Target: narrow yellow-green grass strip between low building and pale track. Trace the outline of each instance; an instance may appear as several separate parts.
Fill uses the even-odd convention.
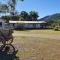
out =
[[[34,33],[34,34],[53,34],[53,35],[60,35],[60,31],[54,31],[54,30],[24,30],[24,31],[18,31],[20,33]]]

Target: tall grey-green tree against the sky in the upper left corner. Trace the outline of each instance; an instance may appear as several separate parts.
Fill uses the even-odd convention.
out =
[[[4,0],[5,1],[5,0]],[[11,13],[11,15],[15,14],[15,8],[16,8],[16,3],[18,0],[7,0],[6,4],[1,4],[0,3],[0,13]],[[24,0],[20,0],[24,1]]]

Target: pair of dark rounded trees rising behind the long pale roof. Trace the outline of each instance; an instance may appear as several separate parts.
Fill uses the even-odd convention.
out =
[[[20,14],[20,20],[22,21],[36,21],[38,18],[38,13],[35,11],[31,11],[27,13],[26,11],[22,11]]]

